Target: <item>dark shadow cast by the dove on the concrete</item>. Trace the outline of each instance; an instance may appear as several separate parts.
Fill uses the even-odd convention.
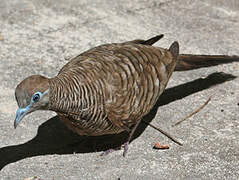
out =
[[[151,122],[160,106],[235,78],[236,77],[231,74],[213,73],[207,78],[200,78],[169,88],[160,96],[157,104],[150,113],[144,117],[144,121]],[[140,136],[146,127],[147,125],[141,123],[133,139]],[[0,148],[0,170],[10,163],[28,157],[48,154],[104,151],[109,148],[120,146],[127,137],[128,134],[124,132],[118,135],[105,135],[99,137],[79,136],[68,130],[59,118],[55,116],[39,126],[37,135],[32,140],[24,144]]]

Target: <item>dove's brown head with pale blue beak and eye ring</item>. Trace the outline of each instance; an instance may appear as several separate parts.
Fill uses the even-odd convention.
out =
[[[46,110],[49,104],[49,79],[33,75],[24,79],[15,90],[19,109],[17,110],[14,128],[27,114],[36,110]]]

